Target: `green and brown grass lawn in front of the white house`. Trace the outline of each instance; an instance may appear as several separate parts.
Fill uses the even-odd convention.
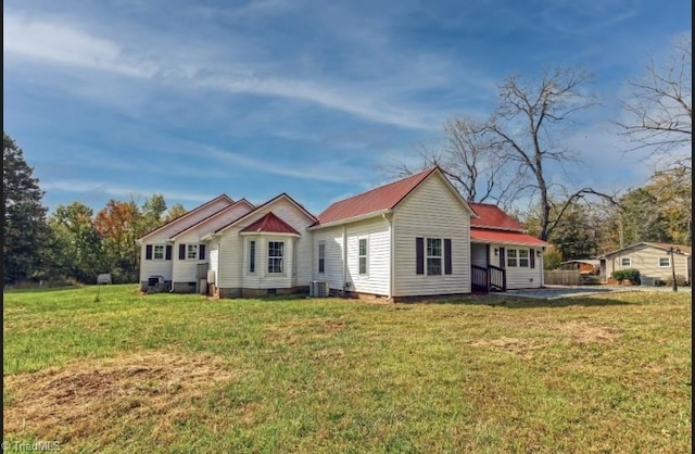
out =
[[[691,452],[691,293],[397,305],[96,294],[4,293],[10,445]]]

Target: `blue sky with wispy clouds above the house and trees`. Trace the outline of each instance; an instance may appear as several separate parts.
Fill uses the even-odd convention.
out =
[[[692,34],[690,1],[5,0],[3,129],[45,203],[288,192],[309,211],[417,161],[505,77],[582,65],[601,105],[553,178],[618,191],[646,163],[611,119],[626,81]]]

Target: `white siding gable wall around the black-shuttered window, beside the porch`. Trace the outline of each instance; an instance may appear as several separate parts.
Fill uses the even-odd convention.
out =
[[[470,214],[438,174],[395,209],[395,297],[470,293]],[[451,275],[416,274],[416,238],[452,240]]]

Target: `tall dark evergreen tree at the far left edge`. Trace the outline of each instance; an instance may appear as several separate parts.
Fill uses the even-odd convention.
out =
[[[41,250],[47,241],[43,191],[24,161],[23,150],[2,133],[2,201],[4,206],[4,283],[33,277],[41,267]]]

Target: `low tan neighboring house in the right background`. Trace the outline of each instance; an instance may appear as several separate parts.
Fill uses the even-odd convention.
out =
[[[671,248],[679,250],[680,253],[671,255],[669,252]],[[631,244],[599,257],[601,276],[608,279],[614,272],[634,268],[640,270],[642,277],[668,280],[672,278],[674,268],[677,276],[683,276],[692,282],[692,247],[684,244],[657,242]],[[673,264],[671,264],[671,256]]]

